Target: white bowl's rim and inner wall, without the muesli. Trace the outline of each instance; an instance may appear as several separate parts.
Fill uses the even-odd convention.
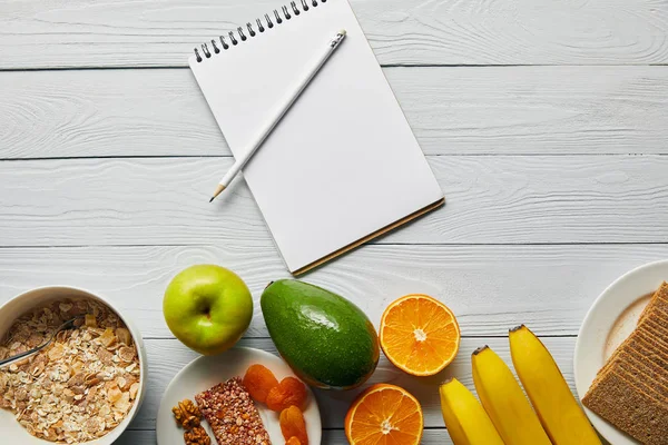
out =
[[[132,340],[137,347],[137,354],[139,357],[139,368],[141,374],[139,376],[139,390],[137,392],[137,398],[130,408],[128,415],[122,419],[120,424],[111,429],[107,435],[97,438],[95,441],[86,442],[87,445],[110,445],[112,444],[128,427],[132,418],[137,415],[141,402],[144,400],[144,394],[146,389],[146,376],[147,376],[147,360],[146,350],[144,348],[144,342],[141,334],[132,325],[132,323],[125,317],[108,299],[100,297],[99,295],[91,294],[84,289],[66,286],[49,286],[40,287],[33,290],[23,293],[0,307],[0,338],[2,338],[6,332],[11,327],[13,322],[21,315],[30,312],[31,309],[56,299],[60,298],[90,298],[100,301],[105,306],[114,310],[120,319],[126,324],[128,330],[132,336]],[[0,409],[0,442],[7,444],[21,444],[21,445],[45,445],[53,444],[53,442],[37,438],[30,435],[26,428],[23,428],[16,421],[14,415],[8,411]]]

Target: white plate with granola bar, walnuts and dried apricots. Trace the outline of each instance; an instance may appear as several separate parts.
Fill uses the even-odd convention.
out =
[[[320,445],[313,393],[264,350],[234,347],[190,362],[158,411],[158,445]]]

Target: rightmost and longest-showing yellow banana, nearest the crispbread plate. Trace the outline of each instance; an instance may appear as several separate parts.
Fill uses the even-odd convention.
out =
[[[554,445],[601,445],[563,375],[540,339],[524,325],[510,330],[518,377]]]

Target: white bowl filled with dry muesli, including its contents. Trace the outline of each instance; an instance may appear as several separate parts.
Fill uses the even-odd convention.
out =
[[[82,289],[43,287],[4,304],[0,360],[2,443],[109,445],[144,397],[141,335]]]

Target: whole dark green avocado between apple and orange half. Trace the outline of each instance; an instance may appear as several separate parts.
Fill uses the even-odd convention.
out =
[[[271,283],[262,313],[281,356],[307,384],[325,389],[362,385],[379,363],[379,336],[347,299],[296,279]]]

